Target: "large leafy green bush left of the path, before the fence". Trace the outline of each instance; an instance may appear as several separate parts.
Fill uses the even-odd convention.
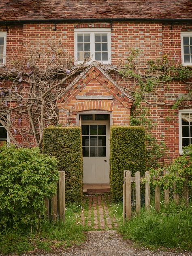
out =
[[[0,226],[21,228],[41,221],[45,197],[58,181],[57,161],[39,148],[0,147]]]

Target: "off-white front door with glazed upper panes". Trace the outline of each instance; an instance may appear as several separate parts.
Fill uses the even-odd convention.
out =
[[[109,122],[82,121],[83,183],[109,183]]]

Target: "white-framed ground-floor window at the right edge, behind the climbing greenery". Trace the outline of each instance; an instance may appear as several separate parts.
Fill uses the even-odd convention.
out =
[[[179,154],[192,144],[192,109],[179,110]]]

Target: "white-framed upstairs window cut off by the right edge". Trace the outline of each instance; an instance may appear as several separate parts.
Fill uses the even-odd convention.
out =
[[[192,66],[192,32],[181,32],[181,60],[184,66]]]

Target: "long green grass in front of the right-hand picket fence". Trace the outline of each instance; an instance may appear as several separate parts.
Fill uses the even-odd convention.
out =
[[[153,250],[192,250],[192,207],[176,206],[172,202],[168,207],[161,205],[158,213],[153,206],[150,211],[142,208],[139,215],[134,215],[125,223],[120,211],[122,213],[122,203],[119,210],[113,206],[113,212],[119,219],[119,233],[124,239],[131,239]]]

